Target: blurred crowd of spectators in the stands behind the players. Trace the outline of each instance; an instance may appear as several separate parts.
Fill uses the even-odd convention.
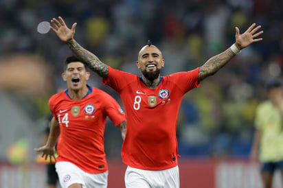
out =
[[[0,93],[8,93],[12,101],[19,102],[18,107],[25,109],[35,126],[27,126],[30,130],[26,130],[19,128],[21,124],[1,125],[1,132],[4,127],[15,126],[14,131],[33,132],[37,138],[35,135],[44,128],[36,120],[48,115],[48,98],[65,87],[60,74],[62,62],[71,51],[52,31],[39,34],[36,28],[41,21],[62,16],[69,27],[78,23],[75,38],[80,45],[111,67],[137,75],[140,75],[135,65],[137,53],[148,40],[161,49],[165,59],[161,74],[168,75],[201,66],[234,43],[235,27],[242,33],[256,23],[262,25],[263,40],[243,49],[216,75],[201,82],[199,89],[187,93],[177,125],[179,154],[183,157],[247,157],[255,108],[265,95],[264,82],[267,78],[282,77],[282,9],[282,0],[2,0]],[[30,60],[21,58],[21,66],[11,68],[15,71],[23,67],[16,72],[16,80],[23,88],[34,88],[36,84],[23,82],[19,75],[38,80],[39,71],[39,75],[45,76],[37,87],[41,92],[36,95],[31,94],[31,89],[20,94],[19,86],[7,86],[17,81],[9,82],[7,78],[12,74],[4,77],[1,73],[8,72],[7,59],[20,54],[45,62],[44,68],[28,72],[35,65],[23,66]],[[107,91],[120,102],[117,93],[103,86],[94,73],[89,84]],[[21,137],[20,133],[14,135],[14,140]],[[120,142],[117,139],[120,132],[108,126],[105,149],[109,157],[120,157],[122,139]]]

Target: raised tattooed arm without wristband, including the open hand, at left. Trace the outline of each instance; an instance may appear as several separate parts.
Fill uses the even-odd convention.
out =
[[[58,20],[52,19],[51,23],[53,25],[51,30],[56,33],[60,40],[68,45],[75,56],[86,64],[89,69],[98,73],[102,78],[108,78],[108,66],[101,62],[97,56],[80,46],[73,38],[76,32],[77,23],[73,23],[73,26],[69,29],[60,16],[58,17]]]

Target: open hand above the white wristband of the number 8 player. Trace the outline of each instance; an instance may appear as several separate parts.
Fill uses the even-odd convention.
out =
[[[238,49],[243,49],[251,43],[262,40],[262,38],[257,38],[258,36],[260,36],[260,34],[263,33],[263,31],[258,32],[260,27],[260,25],[256,27],[256,23],[253,23],[243,34],[240,34],[239,28],[236,27],[236,47],[238,47]]]

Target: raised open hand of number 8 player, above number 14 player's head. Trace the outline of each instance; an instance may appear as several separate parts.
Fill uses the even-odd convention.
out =
[[[52,19],[51,23],[53,25],[53,27],[50,27],[51,30],[54,33],[56,33],[56,35],[63,42],[67,42],[73,39],[73,35],[75,34],[77,23],[73,23],[73,26],[71,27],[71,29],[69,29],[69,27],[67,27],[65,21],[62,19],[61,16],[58,16],[58,20]]]

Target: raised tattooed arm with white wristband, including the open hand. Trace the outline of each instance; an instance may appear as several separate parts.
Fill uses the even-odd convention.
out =
[[[258,32],[260,29],[260,25],[256,27],[256,23],[253,23],[245,33],[240,34],[238,27],[236,27],[236,43],[231,45],[228,49],[223,51],[222,53],[213,56],[203,66],[199,69],[199,81],[204,80],[210,75],[214,75],[217,71],[219,71],[222,67],[227,64],[236,54],[240,52],[241,49],[244,49],[251,43],[258,42],[262,40],[262,38],[257,38],[263,31]]]

